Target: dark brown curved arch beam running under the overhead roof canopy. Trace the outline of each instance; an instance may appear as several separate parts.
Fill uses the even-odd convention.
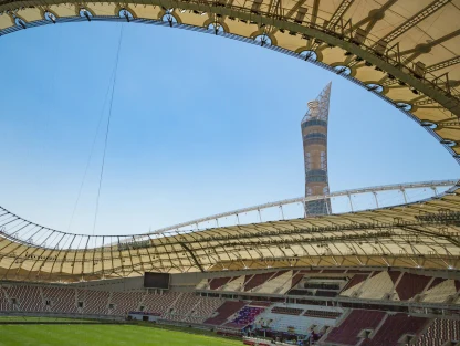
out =
[[[81,6],[81,2],[76,0],[69,0],[65,1],[66,3],[77,3]],[[97,1],[96,1],[97,2]],[[138,0],[138,2],[133,2],[134,4],[144,4],[143,1]],[[217,14],[221,17],[231,17],[238,18],[240,20],[249,21],[259,25],[260,28],[263,27],[272,27],[276,29],[288,30],[293,33],[303,34],[307,38],[314,38],[317,41],[324,42],[330,46],[338,46],[346,52],[349,52],[360,59],[365,60],[366,62],[377,66],[378,69],[386,71],[390,75],[395,76],[399,81],[410,85],[412,88],[419,91],[420,93],[429,96],[430,98],[435,99],[439,103],[442,107],[450,111],[452,114],[460,116],[460,101],[459,98],[450,95],[448,88],[440,87],[439,83],[435,83],[432,81],[426,80],[425,77],[415,76],[410,72],[410,62],[415,59],[408,59],[407,61],[400,61],[399,56],[390,57],[391,54],[387,54],[387,56],[380,56],[374,49],[372,48],[372,42],[368,43],[366,46],[364,43],[355,44],[353,43],[353,36],[351,34],[343,34],[338,31],[327,31],[324,28],[320,28],[317,25],[309,23],[299,24],[296,22],[291,21],[289,18],[284,18],[280,14],[273,14],[270,12],[258,12],[252,13],[250,9],[247,8],[239,8],[233,4],[226,4],[220,6],[218,2],[202,2],[198,0],[191,1],[176,1],[176,0],[153,0],[149,1],[150,4],[161,6],[164,8],[180,8],[185,10],[191,10],[197,12],[205,12],[211,15]],[[3,1],[0,2],[0,12],[2,11],[14,11],[19,8],[30,7],[30,6],[42,6],[46,7],[49,3],[43,2],[42,0],[25,0],[25,1]],[[384,6],[385,7],[385,6]],[[134,22],[134,21],[133,21]],[[445,38],[437,39],[431,43],[427,43],[427,49],[435,44],[442,43],[442,41],[448,40],[457,35],[456,32],[447,34]],[[369,40],[369,38],[367,38]],[[376,44],[374,42],[374,44]],[[405,52],[406,54],[410,53]],[[417,53],[418,54],[418,53]]]

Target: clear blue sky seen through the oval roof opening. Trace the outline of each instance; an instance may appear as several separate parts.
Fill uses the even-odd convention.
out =
[[[0,206],[93,232],[121,25],[56,24],[0,39]],[[321,67],[210,34],[133,23],[123,32],[97,234],[302,196],[300,123],[330,81],[332,191],[459,176],[420,126]]]

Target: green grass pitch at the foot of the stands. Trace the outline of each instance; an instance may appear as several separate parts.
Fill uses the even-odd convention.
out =
[[[242,342],[136,325],[0,325],[0,346],[236,346]]]

